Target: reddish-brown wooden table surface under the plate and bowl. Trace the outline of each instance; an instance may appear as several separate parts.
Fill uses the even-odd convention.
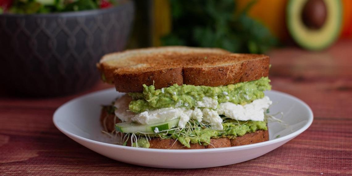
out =
[[[3,175],[352,175],[352,41],[323,52],[277,49],[272,87],[313,109],[312,126],[251,161],[207,169],[158,169],[114,161],[74,142],[52,123],[56,108],[77,96],[0,98],[0,176]],[[97,117],[98,118],[98,117]]]

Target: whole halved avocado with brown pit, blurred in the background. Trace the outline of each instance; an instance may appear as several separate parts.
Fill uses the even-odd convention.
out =
[[[295,42],[309,50],[322,50],[338,37],[342,26],[340,0],[289,0],[287,28]]]

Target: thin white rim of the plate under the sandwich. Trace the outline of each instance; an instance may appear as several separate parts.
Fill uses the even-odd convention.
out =
[[[192,150],[177,150],[177,149],[149,149],[149,148],[140,148],[140,147],[130,147],[130,146],[123,146],[123,145],[117,145],[117,144],[109,144],[109,143],[104,143],[104,142],[99,142],[96,140],[92,140],[92,139],[88,139],[88,138],[84,138],[81,136],[78,136],[77,134],[71,133],[63,128],[60,128],[59,125],[57,124],[56,120],[57,120],[57,113],[60,111],[60,109],[62,109],[64,106],[69,105],[70,103],[73,103],[75,101],[79,101],[80,99],[84,99],[88,96],[94,96],[94,94],[99,94],[99,93],[105,93],[105,92],[110,92],[112,90],[115,90],[115,88],[108,88],[108,89],[103,89],[103,90],[98,90],[95,92],[91,92],[85,95],[81,95],[78,96],[77,98],[71,99],[65,103],[63,103],[61,106],[59,106],[54,114],[53,114],[53,118],[52,121],[54,122],[55,127],[61,131],[62,133],[64,133],[66,136],[68,136],[69,138],[77,138],[81,141],[90,143],[90,144],[94,144],[94,145],[102,145],[105,147],[113,147],[113,148],[117,148],[117,149],[121,149],[121,150],[130,150],[130,151],[135,151],[135,152],[162,152],[162,153],[204,153],[204,152],[223,152],[223,151],[228,151],[228,150],[243,150],[243,149],[251,149],[251,148],[255,148],[255,147],[259,147],[259,146],[266,146],[266,145],[270,145],[270,144],[274,144],[274,143],[279,143],[291,138],[294,138],[296,136],[298,136],[299,134],[301,134],[302,132],[306,131],[309,126],[312,124],[313,119],[314,119],[314,115],[313,115],[313,111],[312,109],[307,105],[306,102],[302,101],[301,99],[290,95],[288,93],[284,93],[284,92],[280,92],[277,90],[269,90],[269,91],[265,91],[265,92],[273,92],[275,94],[279,94],[281,96],[286,96],[288,98],[294,99],[295,101],[302,103],[303,106],[308,110],[308,122],[307,124],[305,124],[302,128],[298,129],[297,131],[290,133],[286,136],[283,137],[278,137],[272,140],[268,140],[268,141],[264,141],[264,142],[260,142],[260,143],[255,143],[255,144],[247,144],[247,145],[241,145],[241,146],[231,146],[231,147],[222,147],[222,148],[215,148],[215,149],[192,149]],[[116,92],[116,93],[120,93],[120,92]],[[74,140],[74,139],[73,139]]]

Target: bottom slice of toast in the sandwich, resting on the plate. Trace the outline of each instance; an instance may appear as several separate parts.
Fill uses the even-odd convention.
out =
[[[114,122],[115,120],[115,122]],[[112,132],[115,130],[115,123],[121,122],[118,118],[115,118],[114,114],[108,114],[106,109],[102,108],[100,115],[100,123],[107,130]],[[210,139],[209,145],[190,144],[190,148],[185,147],[179,141],[175,139],[159,139],[152,138],[149,140],[151,149],[209,149],[209,148],[221,148],[231,147],[239,145],[254,144],[269,140],[268,130],[257,130],[253,133],[246,133],[244,136],[237,137],[236,139],[219,138]],[[131,142],[127,142],[128,146],[131,146]]]

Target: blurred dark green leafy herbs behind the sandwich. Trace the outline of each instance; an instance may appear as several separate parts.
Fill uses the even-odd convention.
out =
[[[161,38],[162,45],[223,48],[232,52],[263,53],[278,40],[247,12],[256,1],[242,9],[234,0],[170,0],[172,29]]]

